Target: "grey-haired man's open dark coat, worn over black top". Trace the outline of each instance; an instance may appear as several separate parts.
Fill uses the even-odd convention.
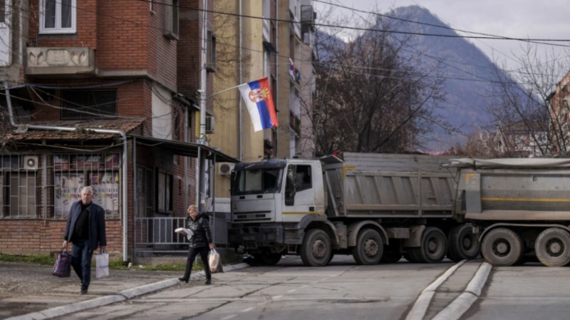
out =
[[[89,212],[89,247],[95,251],[98,246],[107,246],[107,235],[105,234],[105,210],[100,205],[91,202],[87,207]],[[77,218],[81,214],[81,200],[74,202],[69,210],[69,217],[66,225],[66,233],[63,239],[71,240],[73,229],[75,229]]]

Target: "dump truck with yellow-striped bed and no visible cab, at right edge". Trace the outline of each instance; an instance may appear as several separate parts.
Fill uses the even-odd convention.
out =
[[[457,215],[480,234],[494,266],[570,262],[570,159],[455,159]]]

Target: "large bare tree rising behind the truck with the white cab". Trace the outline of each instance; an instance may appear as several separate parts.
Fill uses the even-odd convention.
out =
[[[392,26],[381,19],[378,29]],[[439,66],[404,54],[408,39],[368,31],[344,42],[317,33],[314,128],[318,153],[334,150],[396,153],[421,147],[443,100]]]

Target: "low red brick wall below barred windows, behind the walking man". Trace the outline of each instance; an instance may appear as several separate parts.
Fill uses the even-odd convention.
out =
[[[105,221],[107,250],[123,252],[120,220]],[[0,220],[0,252],[3,254],[49,254],[61,250],[65,220]],[[69,247],[68,249],[71,249]]]

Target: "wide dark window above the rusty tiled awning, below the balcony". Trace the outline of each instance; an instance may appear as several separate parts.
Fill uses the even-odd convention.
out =
[[[117,115],[117,92],[62,91],[62,120],[108,119]]]

